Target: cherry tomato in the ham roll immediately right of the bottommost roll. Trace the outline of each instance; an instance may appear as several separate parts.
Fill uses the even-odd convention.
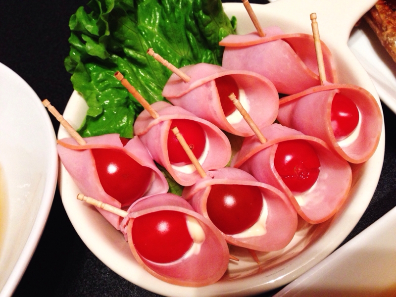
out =
[[[247,185],[213,185],[207,198],[207,214],[225,234],[241,233],[257,222],[263,208],[261,191]]]

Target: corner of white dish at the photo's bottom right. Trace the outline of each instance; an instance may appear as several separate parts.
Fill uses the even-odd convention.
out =
[[[396,208],[393,208],[274,297],[396,295]]]

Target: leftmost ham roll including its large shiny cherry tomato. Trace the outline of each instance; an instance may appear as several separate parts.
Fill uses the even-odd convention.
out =
[[[128,208],[137,199],[168,191],[168,183],[155,166],[139,137],[124,146],[118,134],[84,139],[79,145],[73,138],[58,140],[62,164],[79,190],[117,208]],[[99,212],[119,228],[120,217],[101,208]]]

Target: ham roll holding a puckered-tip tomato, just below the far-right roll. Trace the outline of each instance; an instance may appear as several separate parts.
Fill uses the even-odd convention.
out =
[[[333,216],[351,186],[349,163],[322,140],[280,124],[261,132],[267,142],[245,138],[231,165],[283,191],[307,222],[321,223]]]

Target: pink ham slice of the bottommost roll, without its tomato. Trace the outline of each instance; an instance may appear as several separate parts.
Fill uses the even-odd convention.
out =
[[[167,264],[157,264],[141,257],[133,244],[131,230],[134,219],[161,210],[179,211],[198,221],[205,234],[198,253],[184,255]],[[226,241],[212,222],[195,212],[183,198],[170,193],[145,197],[132,204],[128,212],[120,229],[127,236],[136,260],[153,276],[179,286],[201,287],[217,282],[226,272],[230,257]]]

